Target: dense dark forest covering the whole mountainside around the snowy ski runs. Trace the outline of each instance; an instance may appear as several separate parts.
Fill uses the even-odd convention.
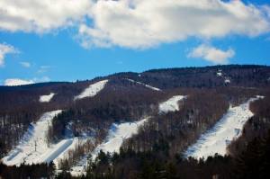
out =
[[[67,137],[67,129],[75,137],[86,134],[94,138],[70,152],[68,159],[60,163],[62,173],[58,174],[53,164],[1,164],[0,175],[4,178],[71,177],[70,166],[105,139],[112,123],[149,117],[138,134],[124,140],[119,154],[100,152],[94,161],[89,160],[91,165],[82,177],[217,179],[254,178],[260,173],[257,177],[264,178],[270,161],[267,152],[269,77],[270,67],[265,66],[186,67],[155,69],[140,74],[120,73],[76,83],[0,86],[1,158],[18,144],[31,123],[44,112],[63,110],[49,126],[48,144]],[[88,85],[103,79],[109,79],[109,82],[99,94],[74,99]],[[49,103],[40,103],[40,95],[50,93],[56,94],[55,97]],[[180,110],[159,113],[158,103],[177,94],[188,96],[178,103]],[[241,137],[229,145],[229,156],[206,160],[184,158],[184,150],[219,121],[229,105],[244,103],[256,95],[265,98],[251,103],[250,109],[255,115],[247,121]],[[254,164],[251,164],[252,160]]]

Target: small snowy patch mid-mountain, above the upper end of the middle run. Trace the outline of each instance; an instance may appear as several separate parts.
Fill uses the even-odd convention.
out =
[[[166,113],[166,112],[175,112],[179,110],[178,102],[183,100],[186,96],[184,95],[175,95],[169,98],[166,102],[159,103],[159,112]]]

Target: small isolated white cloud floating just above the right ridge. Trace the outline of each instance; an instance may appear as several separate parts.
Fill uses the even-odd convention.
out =
[[[202,44],[190,51],[187,57],[202,58],[213,64],[228,64],[229,58],[233,58],[234,55],[235,51],[233,49],[222,50]]]

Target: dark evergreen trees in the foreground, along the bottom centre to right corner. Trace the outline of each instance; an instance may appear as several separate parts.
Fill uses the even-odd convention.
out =
[[[91,179],[266,179],[270,177],[270,130],[264,138],[247,143],[247,148],[235,157],[215,155],[206,160],[183,158],[154,151],[122,150],[120,154],[103,151],[89,161],[86,176]]]

